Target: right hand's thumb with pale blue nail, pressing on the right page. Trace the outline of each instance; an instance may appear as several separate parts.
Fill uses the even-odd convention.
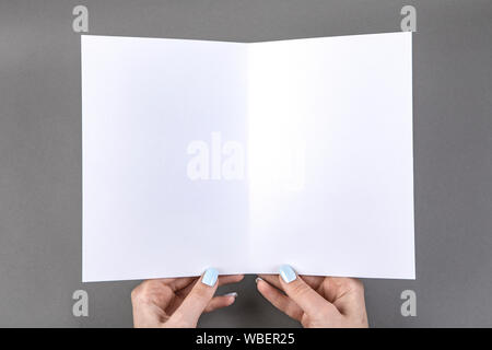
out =
[[[325,314],[329,312],[329,308],[335,308],[330,302],[304,282],[289,265],[282,265],[279,272],[280,284],[284,292],[308,316],[315,317],[321,313]]]

